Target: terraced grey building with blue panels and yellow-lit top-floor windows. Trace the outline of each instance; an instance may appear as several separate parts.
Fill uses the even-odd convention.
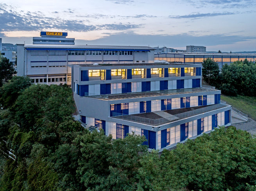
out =
[[[106,135],[145,135],[150,149],[172,147],[231,124],[220,91],[201,87],[201,65],[70,65],[81,121]]]

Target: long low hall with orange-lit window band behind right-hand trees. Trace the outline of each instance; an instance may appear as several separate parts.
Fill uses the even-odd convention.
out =
[[[186,64],[201,64],[204,59],[211,58],[222,68],[224,64],[230,64],[238,60],[256,61],[256,54],[233,54],[233,53],[168,53],[155,54],[155,60],[179,62]]]

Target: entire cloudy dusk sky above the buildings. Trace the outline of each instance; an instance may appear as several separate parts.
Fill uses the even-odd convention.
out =
[[[40,31],[75,44],[256,51],[256,0],[0,0],[3,43]]]

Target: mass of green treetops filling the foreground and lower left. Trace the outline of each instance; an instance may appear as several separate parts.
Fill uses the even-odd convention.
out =
[[[145,137],[112,140],[73,121],[70,88],[23,80],[8,82],[0,94],[0,146],[16,155],[0,156],[1,191],[255,190],[256,139],[246,131],[221,127],[149,153]],[[20,87],[17,96],[11,87]]]

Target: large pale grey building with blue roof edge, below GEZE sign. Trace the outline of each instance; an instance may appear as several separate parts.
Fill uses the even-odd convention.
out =
[[[72,64],[154,63],[154,49],[144,46],[17,44],[17,75],[34,83],[71,85]]]

